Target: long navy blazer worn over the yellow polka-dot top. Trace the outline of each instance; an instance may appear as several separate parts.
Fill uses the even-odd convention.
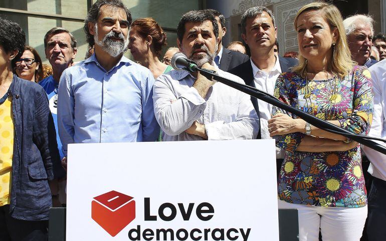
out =
[[[47,220],[52,197],[48,180],[64,175],[54,120],[44,89],[16,75],[11,84],[14,155],[10,214],[22,220]]]

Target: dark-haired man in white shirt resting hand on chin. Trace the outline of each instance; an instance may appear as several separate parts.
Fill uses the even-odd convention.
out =
[[[216,19],[206,11],[184,14],[177,27],[180,52],[199,67],[244,83],[213,66],[218,44]],[[199,72],[170,71],[154,83],[155,117],[163,140],[253,139],[259,119],[247,94],[208,80]]]

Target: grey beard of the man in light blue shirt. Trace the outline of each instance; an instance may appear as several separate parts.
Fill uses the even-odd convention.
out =
[[[121,41],[112,40],[112,38],[120,39]],[[123,54],[127,50],[127,45],[129,44],[128,36],[123,36],[122,33],[115,33],[112,30],[105,35],[105,37],[99,41],[98,40],[98,27],[95,24],[95,35],[94,42],[96,45],[102,48],[106,53],[108,53],[112,57],[118,57]]]

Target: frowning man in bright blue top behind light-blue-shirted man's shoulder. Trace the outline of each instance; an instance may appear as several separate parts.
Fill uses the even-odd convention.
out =
[[[44,49],[46,52],[46,58],[50,62],[53,70],[53,75],[43,79],[39,84],[47,92],[49,99],[49,106],[54,118],[55,129],[56,129],[56,141],[58,142],[58,149],[60,158],[64,159],[64,154],[62,151],[62,142],[59,138],[58,133],[58,86],[60,76],[63,71],[71,67],[73,60],[76,57],[76,39],[74,36],[64,28],[53,28],[49,30],[44,36]],[[55,182],[51,183],[51,186]],[[58,197],[62,205],[66,203],[66,194],[65,194],[65,181],[60,181],[59,186],[52,188],[52,192],[55,195],[55,190],[59,189]],[[54,196],[53,196],[54,197]],[[55,200],[55,199],[54,199]]]

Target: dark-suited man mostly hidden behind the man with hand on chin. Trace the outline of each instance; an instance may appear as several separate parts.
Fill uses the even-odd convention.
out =
[[[217,24],[219,25],[219,45],[217,50],[217,56],[214,60],[219,69],[228,71],[244,62],[247,62],[249,60],[248,55],[226,49],[222,44],[223,37],[227,33],[224,15],[222,15],[219,11],[213,9],[208,9],[206,11],[211,13],[216,18]]]

